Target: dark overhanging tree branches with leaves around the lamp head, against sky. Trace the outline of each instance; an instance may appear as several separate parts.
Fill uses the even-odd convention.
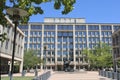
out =
[[[8,1],[8,2],[7,2]],[[21,18],[21,23],[27,23],[31,15],[43,14],[40,4],[46,2],[54,2],[54,9],[59,10],[64,7],[62,14],[68,14],[73,10],[73,4],[76,0],[1,0],[0,1],[0,24],[4,25],[7,21],[4,18],[6,15],[5,10],[10,8],[11,5],[7,3],[13,3],[12,7],[24,9],[28,12],[28,16]],[[10,16],[12,19],[12,16]]]

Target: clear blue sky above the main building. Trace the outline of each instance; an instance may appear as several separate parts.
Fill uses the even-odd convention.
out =
[[[85,18],[87,23],[120,23],[120,0],[76,0],[74,10],[62,15],[53,3],[40,5],[44,14],[32,15],[29,22],[43,22],[45,17]]]

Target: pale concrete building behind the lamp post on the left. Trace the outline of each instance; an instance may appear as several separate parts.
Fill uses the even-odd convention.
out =
[[[7,39],[4,42],[0,41],[0,73],[10,71],[13,52],[14,25],[7,17],[6,19],[8,20],[7,26],[0,25],[1,33],[7,33]],[[19,72],[23,69],[24,36],[24,33],[17,28],[14,66],[17,65],[19,68],[14,68],[19,69]]]

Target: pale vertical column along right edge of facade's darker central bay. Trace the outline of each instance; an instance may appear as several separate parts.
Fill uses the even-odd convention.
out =
[[[75,50],[75,24],[73,24],[73,63],[74,70],[76,70],[76,50]]]

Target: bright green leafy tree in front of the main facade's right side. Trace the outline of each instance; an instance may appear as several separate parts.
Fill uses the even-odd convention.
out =
[[[100,43],[94,50],[84,49],[83,54],[87,56],[92,67],[111,67],[113,65],[111,47],[105,43]]]

